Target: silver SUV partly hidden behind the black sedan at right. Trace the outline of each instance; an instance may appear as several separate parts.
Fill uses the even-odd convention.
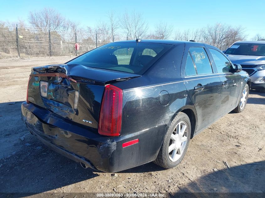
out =
[[[237,41],[224,51],[251,79],[251,88],[265,93],[265,41]]]

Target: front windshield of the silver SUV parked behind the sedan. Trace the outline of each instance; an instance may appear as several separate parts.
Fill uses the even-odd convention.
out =
[[[265,44],[235,43],[225,53],[232,55],[265,56]]]

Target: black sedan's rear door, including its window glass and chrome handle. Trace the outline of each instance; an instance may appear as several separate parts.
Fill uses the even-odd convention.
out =
[[[221,81],[204,44],[186,43],[181,75],[197,112],[197,131],[213,123],[221,98]]]

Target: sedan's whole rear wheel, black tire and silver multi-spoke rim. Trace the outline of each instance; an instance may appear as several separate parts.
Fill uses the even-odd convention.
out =
[[[191,125],[187,114],[179,112],[167,129],[155,164],[170,169],[178,165],[187,152]]]

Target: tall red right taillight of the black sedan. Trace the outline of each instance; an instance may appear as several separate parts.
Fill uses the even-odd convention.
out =
[[[118,136],[121,130],[123,91],[111,84],[105,86],[101,104],[98,133]]]

